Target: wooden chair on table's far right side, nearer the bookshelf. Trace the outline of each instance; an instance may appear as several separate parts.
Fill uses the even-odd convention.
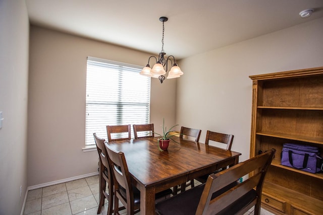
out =
[[[225,133],[218,133],[214,131],[206,131],[206,137],[205,137],[205,145],[209,145],[209,140],[215,141],[217,143],[220,143],[222,145],[226,146],[226,150],[231,150],[232,142],[233,142],[233,134],[225,134]],[[221,167],[219,170],[213,172],[217,173],[219,171],[225,170],[227,167]],[[198,178],[195,178],[197,181],[201,183],[205,183],[207,180],[209,174],[200,176]]]

